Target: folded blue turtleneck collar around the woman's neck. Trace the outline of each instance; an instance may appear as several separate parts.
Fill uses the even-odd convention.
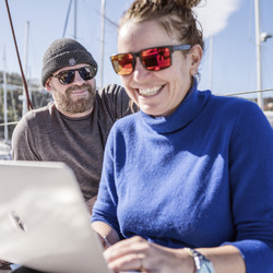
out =
[[[189,124],[207,103],[211,92],[197,90],[197,81],[178,108],[167,117],[151,117],[140,110],[141,118],[158,133],[171,133]]]

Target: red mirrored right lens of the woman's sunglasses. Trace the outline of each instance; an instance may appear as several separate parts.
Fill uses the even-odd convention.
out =
[[[171,66],[170,51],[167,47],[158,47],[143,50],[141,60],[147,70],[158,71]]]

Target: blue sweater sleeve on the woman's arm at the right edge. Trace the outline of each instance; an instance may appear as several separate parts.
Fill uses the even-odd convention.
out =
[[[248,273],[272,272],[273,130],[260,108],[246,103],[235,121],[229,146],[234,245]]]

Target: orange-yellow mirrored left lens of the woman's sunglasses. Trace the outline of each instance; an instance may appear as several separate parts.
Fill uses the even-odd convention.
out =
[[[111,56],[114,70],[119,75],[129,75],[133,71],[134,58],[131,54]]]

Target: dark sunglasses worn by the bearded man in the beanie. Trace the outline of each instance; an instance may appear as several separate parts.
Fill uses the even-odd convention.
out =
[[[61,71],[57,75],[51,74],[51,76],[57,78],[61,84],[70,84],[75,80],[75,71],[79,72],[80,76],[84,81],[92,80],[96,73],[97,73],[97,68],[95,67],[84,67],[80,69],[71,69],[71,70],[66,70]]]

